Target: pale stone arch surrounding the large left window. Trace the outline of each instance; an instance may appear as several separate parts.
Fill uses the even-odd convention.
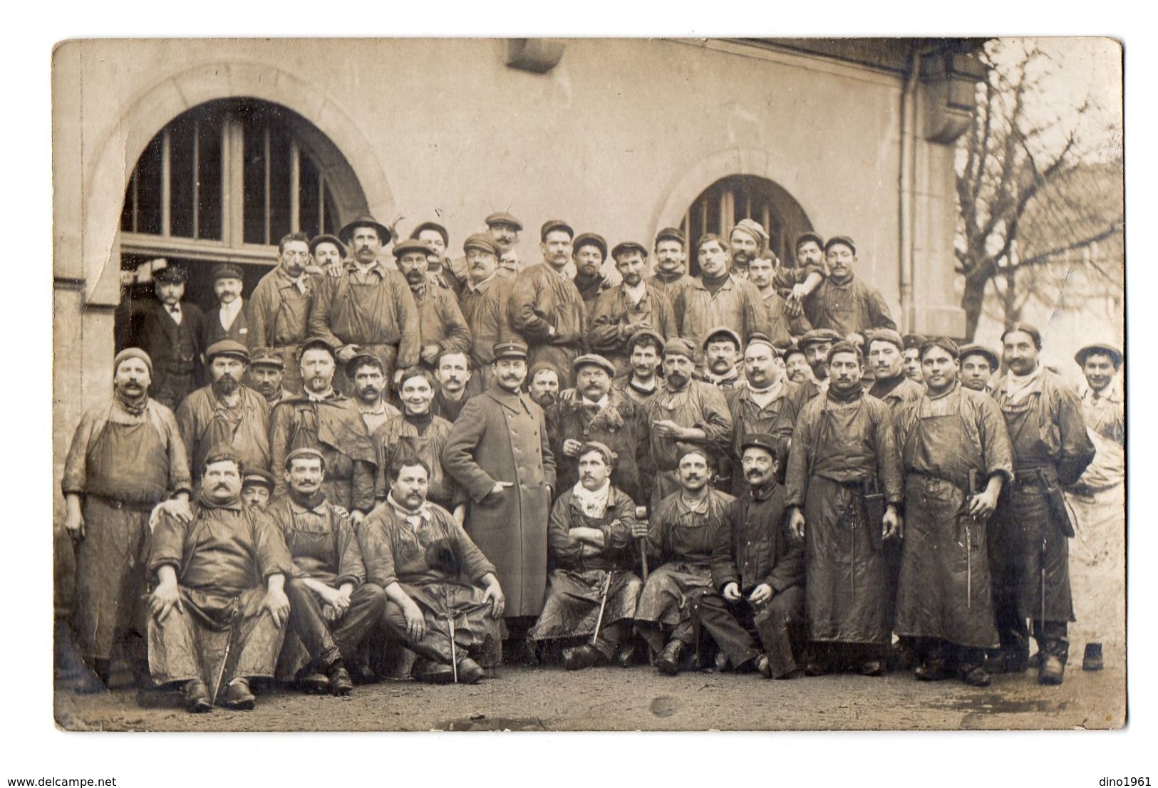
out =
[[[125,184],[145,146],[182,112],[230,97],[285,106],[329,141],[332,148],[320,147],[330,150],[325,165],[345,183],[338,206],[342,219],[364,211],[389,218],[393,194],[374,143],[321,87],[264,64],[205,64],[166,78],[131,102],[85,174],[81,233],[87,303],[109,308],[119,301],[118,216]]]

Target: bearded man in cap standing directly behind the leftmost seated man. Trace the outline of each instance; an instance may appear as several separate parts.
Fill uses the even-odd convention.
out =
[[[213,382],[185,397],[177,408],[177,426],[189,452],[189,466],[200,467],[211,450],[227,445],[247,469],[267,469],[270,405],[241,383],[249,366],[249,349],[241,343],[221,339],[205,355]]]

